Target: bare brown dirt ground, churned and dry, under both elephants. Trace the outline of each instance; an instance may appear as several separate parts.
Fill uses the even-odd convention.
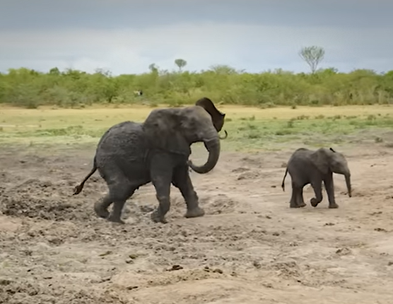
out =
[[[152,223],[156,194],[141,187],[125,225],[93,213],[98,173],[78,196],[94,148],[54,156],[0,153],[0,303],[393,303],[393,149],[341,149],[353,197],[335,175],[339,209],[290,209],[293,150],[221,153],[192,181],[206,211],[183,217],[172,187],[167,224]],[[197,157],[197,156],[198,157]],[[192,154],[202,163],[206,153]]]

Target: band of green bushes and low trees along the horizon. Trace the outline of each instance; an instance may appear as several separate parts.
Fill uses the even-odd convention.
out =
[[[139,95],[139,90],[143,93]],[[371,105],[393,103],[393,71],[339,73],[320,69],[315,74],[267,71],[259,74],[215,66],[197,72],[160,71],[111,76],[68,69],[40,73],[10,69],[0,74],[0,103],[35,108],[40,105],[83,107],[94,103],[155,106],[195,103],[206,96],[214,103],[255,105]]]

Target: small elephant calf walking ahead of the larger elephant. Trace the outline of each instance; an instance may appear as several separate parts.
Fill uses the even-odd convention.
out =
[[[311,184],[315,197],[310,199],[310,204],[316,207],[322,201],[322,181],[329,199],[329,208],[339,208],[334,199],[333,173],[345,176],[348,196],[351,197],[351,172],[343,154],[332,148],[319,148],[312,151],[307,148],[298,148],[288,160],[286,173],[281,187],[285,191],[285,178],[289,173],[292,179],[292,197],[289,203],[291,208],[305,206],[303,200],[303,187]]]

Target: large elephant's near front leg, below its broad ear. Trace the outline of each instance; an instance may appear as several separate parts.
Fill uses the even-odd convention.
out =
[[[151,164],[151,182],[156,188],[158,208],[151,214],[151,219],[156,223],[167,223],[165,214],[170,209],[170,182],[172,181],[172,166],[170,160],[156,158]]]

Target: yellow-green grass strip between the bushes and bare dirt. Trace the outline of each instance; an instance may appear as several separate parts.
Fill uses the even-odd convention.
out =
[[[151,107],[89,107],[83,109],[0,108],[0,144],[28,146],[96,144],[112,124],[142,122]],[[340,144],[351,135],[393,127],[393,107],[257,107],[220,106],[226,113],[228,139],[223,149],[277,149],[288,142],[310,146]],[[370,133],[371,131],[371,133]],[[382,141],[374,136],[375,141]]]

